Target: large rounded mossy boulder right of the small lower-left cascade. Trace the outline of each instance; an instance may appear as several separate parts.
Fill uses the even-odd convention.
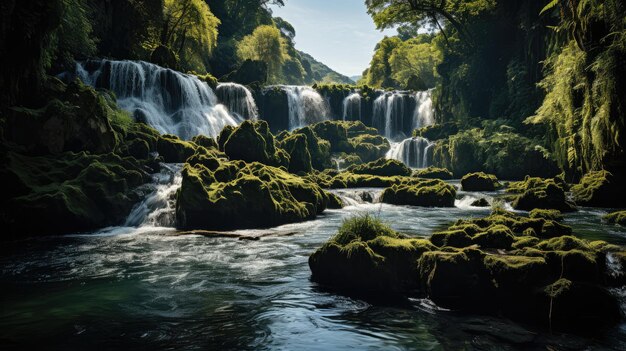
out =
[[[185,165],[176,203],[181,229],[265,228],[315,218],[327,206],[315,183],[261,163]]]

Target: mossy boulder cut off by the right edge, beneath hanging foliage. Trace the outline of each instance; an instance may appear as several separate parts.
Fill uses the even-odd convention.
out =
[[[608,171],[589,172],[571,191],[580,206],[623,207],[626,184]]]

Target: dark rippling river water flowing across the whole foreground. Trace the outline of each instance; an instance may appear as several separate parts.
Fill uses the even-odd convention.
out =
[[[29,345],[54,349],[546,350],[546,345],[553,350],[624,349],[626,324],[593,338],[549,334],[506,319],[441,310],[417,298],[372,303],[312,282],[309,255],[334,235],[346,217],[370,213],[400,232],[428,236],[458,218],[487,215],[488,208],[468,203],[494,195],[459,192],[457,207],[449,209],[359,200],[379,193],[379,189],[339,191],[352,206],[327,210],[310,222],[231,233],[242,239],[178,235],[174,229],[148,224],[4,244],[0,345],[21,349]],[[603,213],[583,209],[567,215],[566,223],[582,237],[626,244],[626,230],[602,224]],[[243,240],[253,237],[257,240]]]

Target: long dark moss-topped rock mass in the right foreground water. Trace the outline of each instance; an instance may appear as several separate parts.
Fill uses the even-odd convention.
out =
[[[620,305],[607,288],[624,280],[605,262],[611,255],[626,263],[626,251],[567,235],[534,236],[547,223],[556,222],[495,210],[423,240],[403,238],[370,217],[357,218],[318,249],[309,266],[313,280],[351,294],[418,293],[444,308],[504,315],[552,330],[615,325]]]

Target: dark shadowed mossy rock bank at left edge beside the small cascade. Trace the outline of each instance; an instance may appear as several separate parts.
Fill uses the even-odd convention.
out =
[[[141,163],[115,154],[7,155],[0,172],[5,239],[94,231],[119,225],[150,181]],[[33,221],[33,218],[37,218]]]

